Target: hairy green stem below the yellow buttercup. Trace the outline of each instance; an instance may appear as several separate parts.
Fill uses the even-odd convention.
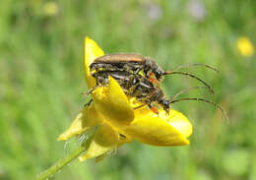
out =
[[[85,152],[88,146],[81,146],[79,149],[74,150],[68,156],[61,158],[54,165],[37,175],[36,180],[44,180],[52,177],[56,172],[58,172],[62,167],[69,164],[72,160],[76,159],[81,153]]]

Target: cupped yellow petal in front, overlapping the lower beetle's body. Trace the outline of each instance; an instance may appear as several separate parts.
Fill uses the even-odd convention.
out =
[[[112,125],[122,127],[133,121],[134,110],[127,96],[113,78],[108,78],[107,87],[95,90],[93,99],[96,109]]]

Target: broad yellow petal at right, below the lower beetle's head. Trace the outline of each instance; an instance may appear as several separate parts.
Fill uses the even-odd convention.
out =
[[[180,112],[170,110],[166,115],[159,110],[157,115],[149,109],[137,109],[135,119],[124,129],[126,135],[153,146],[189,145],[186,139],[192,134],[192,125]]]

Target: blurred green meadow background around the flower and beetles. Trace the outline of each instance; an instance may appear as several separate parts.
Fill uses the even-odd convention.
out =
[[[254,180],[256,179],[256,62],[237,40],[256,44],[256,1],[42,1],[0,4],[0,179],[34,179],[65,156],[56,139],[88,100],[82,66],[85,35],[105,53],[139,52],[163,69],[206,63],[186,71],[206,80],[221,104],[173,108],[194,125],[191,145],[158,148],[134,142],[100,163],[74,161],[51,179]],[[246,44],[245,44],[246,45]],[[248,45],[248,44],[247,44]],[[165,78],[167,96],[197,81]]]

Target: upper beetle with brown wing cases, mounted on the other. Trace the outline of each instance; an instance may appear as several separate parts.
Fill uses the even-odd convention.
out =
[[[154,61],[154,59],[134,53],[114,53],[97,57],[96,60],[90,65],[90,70],[93,76],[98,71],[127,71],[134,74],[139,74],[143,72],[144,76],[151,82],[160,84],[163,76],[165,75],[179,74],[184,76],[190,76],[199,80],[192,74],[185,72],[176,72],[176,70],[191,66],[204,66],[206,68],[219,72],[216,68],[201,63],[187,64],[183,66],[178,66],[169,71],[163,71],[160,66]],[[156,79],[152,78],[152,76],[155,76]],[[206,84],[205,86],[207,86],[209,90],[214,93],[214,90],[212,90],[210,86]]]

